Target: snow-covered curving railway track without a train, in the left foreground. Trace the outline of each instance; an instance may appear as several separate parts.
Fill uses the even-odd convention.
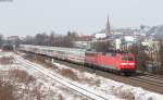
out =
[[[95,91],[90,91],[90,90],[88,90],[82,86],[77,86],[77,85],[71,83],[70,80],[57,75],[55,73],[52,73],[45,67],[41,67],[38,64],[34,64],[29,61],[26,61],[22,57],[15,55],[15,59],[17,61],[20,61],[21,63],[28,65],[28,67],[33,67],[34,70],[47,75],[48,77],[52,78],[53,80],[58,82],[59,84],[66,86],[67,88],[71,88],[72,90],[79,92],[79,93],[82,93],[82,95],[84,95],[84,96],[86,96],[92,100],[109,100],[109,98],[102,97],[101,95],[98,95]]]

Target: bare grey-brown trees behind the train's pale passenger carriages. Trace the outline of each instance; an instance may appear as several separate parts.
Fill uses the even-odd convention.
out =
[[[25,45],[53,46],[53,47],[73,47],[73,41],[78,40],[76,32],[67,32],[66,35],[59,35],[51,32],[50,35],[42,33],[33,36],[26,36],[22,41]]]

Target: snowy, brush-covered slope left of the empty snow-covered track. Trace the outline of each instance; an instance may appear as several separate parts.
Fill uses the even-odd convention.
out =
[[[0,52],[0,100],[88,100],[20,63],[13,55]]]

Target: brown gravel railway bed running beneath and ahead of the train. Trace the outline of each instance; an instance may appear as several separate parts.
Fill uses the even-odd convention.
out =
[[[35,53],[29,53],[29,54],[35,54]],[[38,55],[38,54],[35,54],[35,55]],[[43,55],[41,55],[41,57],[43,57]],[[45,58],[50,58],[50,57],[45,57]],[[142,87],[150,91],[163,93],[163,77],[162,76],[151,75],[151,74],[147,74],[147,73],[143,74],[143,73],[138,72],[134,76],[126,77],[126,76],[116,75],[114,73],[93,70],[90,67],[84,67],[83,65],[65,62],[62,60],[54,60],[54,62],[67,65],[70,67],[79,70],[82,72],[96,73],[97,75],[103,76],[105,78],[110,78],[110,79],[125,83],[125,84],[136,86],[136,87]]]

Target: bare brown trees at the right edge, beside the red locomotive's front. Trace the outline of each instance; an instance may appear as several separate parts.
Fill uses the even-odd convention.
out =
[[[133,45],[129,52],[135,54],[138,71],[163,75],[163,40],[148,50],[141,43]]]

